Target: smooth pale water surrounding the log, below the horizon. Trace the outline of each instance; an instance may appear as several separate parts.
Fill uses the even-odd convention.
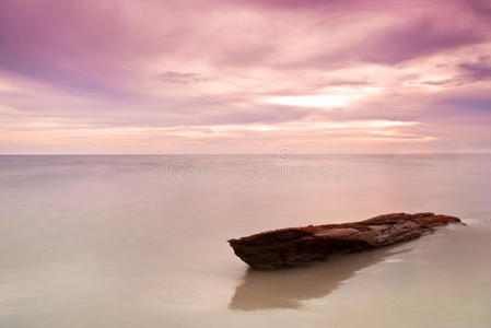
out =
[[[0,327],[490,327],[491,155],[0,156]],[[226,239],[389,212],[397,247],[248,270]]]

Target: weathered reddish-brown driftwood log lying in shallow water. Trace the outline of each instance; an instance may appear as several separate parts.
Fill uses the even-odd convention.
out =
[[[447,223],[461,221],[434,213],[393,213],[360,222],[268,231],[229,243],[235,255],[250,267],[276,269],[322,260],[334,253],[394,245],[432,233]]]

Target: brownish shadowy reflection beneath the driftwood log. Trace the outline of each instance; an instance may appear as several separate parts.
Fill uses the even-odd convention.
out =
[[[236,286],[230,309],[299,308],[301,301],[319,298],[336,290],[363,268],[376,265],[396,254],[395,247],[340,255],[308,268],[273,271],[248,269]]]

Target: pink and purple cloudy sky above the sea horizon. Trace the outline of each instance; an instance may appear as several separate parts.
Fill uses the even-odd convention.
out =
[[[0,1],[0,153],[283,148],[491,152],[491,1]]]

